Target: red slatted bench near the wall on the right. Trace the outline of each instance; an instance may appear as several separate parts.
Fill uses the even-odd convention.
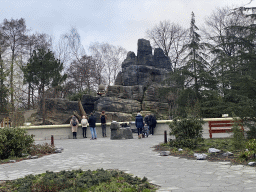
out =
[[[235,121],[232,120],[223,120],[223,121],[209,121],[209,134],[210,138],[212,138],[213,133],[226,133],[231,132],[232,126]],[[238,121],[238,125],[244,131],[244,127],[242,125],[242,121]]]

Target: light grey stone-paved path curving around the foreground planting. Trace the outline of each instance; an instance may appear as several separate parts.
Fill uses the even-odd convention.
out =
[[[55,140],[63,147],[60,154],[39,159],[0,165],[0,180],[12,180],[46,170],[120,169],[160,185],[158,191],[256,191],[256,169],[227,162],[187,160],[173,156],[159,156],[153,145],[163,142],[163,135],[144,139]],[[50,141],[37,141],[43,143]]]

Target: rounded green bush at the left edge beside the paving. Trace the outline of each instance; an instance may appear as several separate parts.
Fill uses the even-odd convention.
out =
[[[32,143],[33,136],[26,135],[26,130],[21,128],[0,128],[0,159],[10,156],[21,157],[27,153]]]

